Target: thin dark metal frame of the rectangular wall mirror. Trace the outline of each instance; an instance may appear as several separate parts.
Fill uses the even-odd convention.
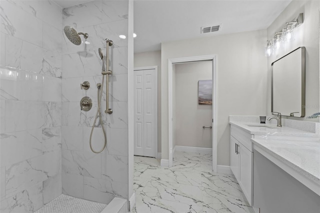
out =
[[[294,52],[295,50],[297,50],[299,48],[301,48],[301,115],[294,116],[294,114],[293,114],[293,117],[304,117],[304,115],[305,115],[305,47],[304,46],[299,46],[298,48],[290,51],[286,55],[280,57],[279,59],[277,59],[271,63],[271,69],[272,69],[272,71],[271,71],[271,113],[274,112],[273,111],[273,63],[280,60],[281,58],[287,56],[288,54]],[[282,114],[282,115],[290,116],[290,115],[286,115],[286,114]]]

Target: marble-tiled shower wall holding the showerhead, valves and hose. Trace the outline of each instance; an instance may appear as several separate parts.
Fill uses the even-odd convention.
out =
[[[127,0],[95,0],[63,9],[63,26],[88,33],[90,44],[72,44],[62,38],[62,193],[108,203],[114,196],[128,198],[128,134],[127,134]],[[81,36],[83,39],[83,36]],[[109,105],[112,114],[105,114],[105,87],[101,103],[102,120],[97,120],[92,145],[100,150],[103,145],[103,122],[107,147],[93,153],[89,135],[97,109],[97,87],[101,82],[101,59],[105,56],[105,38],[113,40],[110,47]],[[80,83],[89,81],[87,90]],[[79,101],[89,96],[93,105],[81,111]]]

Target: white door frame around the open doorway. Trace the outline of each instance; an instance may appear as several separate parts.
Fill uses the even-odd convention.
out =
[[[216,71],[216,58],[215,54],[189,56],[168,59],[168,166],[172,166],[173,161],[173,100],[172,100],[172,74],[173,64],[181,62],[192,62],[201,60],[212,60],[212,170],[217,172],[217,71]]]

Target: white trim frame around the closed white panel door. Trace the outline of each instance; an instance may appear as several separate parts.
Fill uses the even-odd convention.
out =
[[[154,144],[154,157],[157,158],[158,155],[158,66],[141,66],[141,67],[134,67],[133,71],[137,71],[137,70],[145,70],[145,69],[154,69],[155,71],[155,80],[154,80],[154,88],[156,89],[156,97],[155,99],[155,112],[156,112],[156,116],[155,116],[155,131],[154,131],[154,137],[155,137],[155,144]],[[133,102],[134,102],[134,94],[133,94]],[[134,105],[133,105],[134,107]],[[134,126],[134,123],[133,123]],[[134,144],[134,127],[133,127],[133,144]],[[133,149],[133,155],[134,155],[134,149]]]

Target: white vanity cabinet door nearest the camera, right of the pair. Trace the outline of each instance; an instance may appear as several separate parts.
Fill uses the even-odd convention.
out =
[[[253,153],[249,151],[244,145],[240,143],[238,147],[238,152],[240,155],[240,181],[239,184],[241,189],[250,203],[252,205],[252,158]]]

